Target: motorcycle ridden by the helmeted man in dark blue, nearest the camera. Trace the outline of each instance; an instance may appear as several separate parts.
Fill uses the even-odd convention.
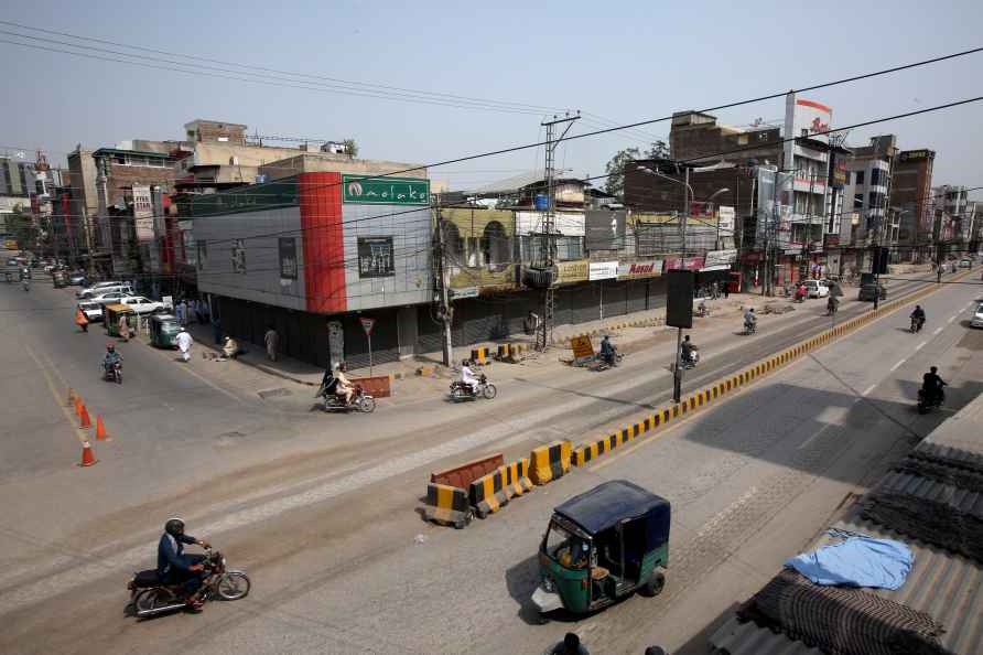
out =
[[[202,589],[198,598],[207,602],[218,597],[222,600],[239,600],[249,593],[251,582],[245,571],[226,568],[225,558],[217,550],[205,549],[202,560]],[[127,583],[130,591],[130,608],[140,619],[156,616],[165,612],[187,606],[181,584],[161,584],[155,569],[138,571]]]

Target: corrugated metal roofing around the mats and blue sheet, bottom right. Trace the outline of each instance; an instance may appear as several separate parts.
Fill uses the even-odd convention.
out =
[[[980,470],[983,455],[983,396],[977,397],[953,418],[942,423],[922,441],[914,457],[943,458],[968,469]],[[983,515],[981,494],[954,487],[909,473],[888,473],[877,490],[910,495],[914,498],[949,504],[960,512]],[[961,655],[983,653],[983,562],[954,555],[933,545],[911,539],[889,527],[865,520],[860,504],[843,520],[832,527],[861,533],[872,537],[896,539],[906,544],[915,554],[915,566],[905,584],[897,590],[869,590],[885,599],[901,603],[912,610],[930,614],[942,623],[941,636],[944,648]],[[836,539],[823,534],[808,550],[814,550]],[[818,648],[808,648],[800,642],[790,641],[785,634],[759,629],[754,623],[739,623],[736,618],[727,621],[711,637],[712,652],[730,655],[820,655]]]

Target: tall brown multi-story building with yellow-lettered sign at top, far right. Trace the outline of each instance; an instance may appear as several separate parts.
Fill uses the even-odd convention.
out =
[[[898,208],[895,245],[905,261],[930,261],[935,256],[935,208],[931,183],[936,153],[926,148],[903,150],[890,175],[890,206]]]

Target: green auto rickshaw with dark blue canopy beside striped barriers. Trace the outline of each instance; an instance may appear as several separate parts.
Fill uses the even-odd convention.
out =
[[[669,501],[626,480],[605,482],[553,509],[539,549],[540,616],[599,610],[639,591],[656,595],[669,566]]]

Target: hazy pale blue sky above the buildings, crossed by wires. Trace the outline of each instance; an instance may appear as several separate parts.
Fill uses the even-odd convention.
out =
[[[41,148],[64,165],[77,143],[176,140],[185,122],[205,118],[246,124],[250,135],[352,138],[359,157],[433,163],[536,143],[544,136],[540,124],[565,110],[581,111],[570,132],[577,135],[983,46],[979,0],[832,3],[839,13],[796,1],[474,7],[9,2],[0,21],[202,58],[0,24],[0,41],[133,61],[53,42],[61,41],[166,60],[142,60],[159,66],[152,68],[0,42],[6,90],[17,98],[4,103],[0,153]],[[832,107],[833,128],[976,96],[983,53],[802,95]],[[747,126],[781,120],[784,107],[778,98],[714,114]],[[895,133],[901,149],[936,150],[933,184],[983,186],[981,116],[983,101],[851,130],[847,142]],[[574,175],[598,175],[616,151],[668,140],[668,132],[661,121],[572,140],[558,148],[557,163]],[[433,168],[430,176],[468,189],[542,165],[542,148],[531,148]]]

